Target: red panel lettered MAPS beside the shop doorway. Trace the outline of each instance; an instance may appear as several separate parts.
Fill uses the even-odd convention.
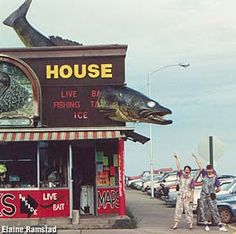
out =
[[[98,188],[98,214],[119,213],[118,188]]]

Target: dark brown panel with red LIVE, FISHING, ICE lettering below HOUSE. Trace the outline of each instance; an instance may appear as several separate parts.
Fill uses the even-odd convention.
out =
[[[45,87],[42,122],[47,127],[123,126],[104,118],[96,107],[101,87]],[[95,124],[96,123],[96,124]]]

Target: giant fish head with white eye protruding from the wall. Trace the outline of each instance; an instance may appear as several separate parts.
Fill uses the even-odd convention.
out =
[[[164,119],[171,110],[128,87],[105,87],[98,97],[98,110],[106,118],[121,122],[171,124]]]

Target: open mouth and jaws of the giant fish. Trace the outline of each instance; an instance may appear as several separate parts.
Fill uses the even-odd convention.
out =
[[[169,115],[171,113],[172,112],[169,109],[165,109],[162,111],[141,110],[139,112],[140,116],[146,119],[146,122],[160,125],[168,125],[173,122],[172,120],[164,119],[166,115]]]

